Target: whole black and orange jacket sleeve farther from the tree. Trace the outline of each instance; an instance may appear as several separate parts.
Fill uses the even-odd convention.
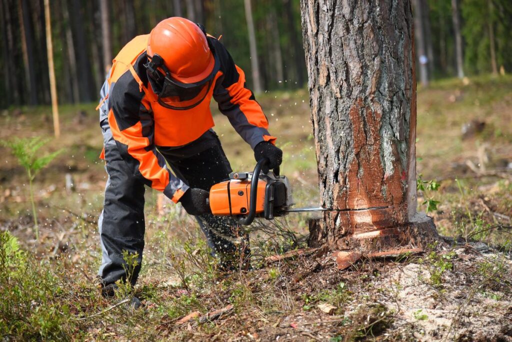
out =
[[[133,80],[133,81],[132,81]],[[167,168],[154,144],[154,121],[149,102],[128,72],[111,87],[109,125],[121,157],[152,188],[178,202],[188,186]]]

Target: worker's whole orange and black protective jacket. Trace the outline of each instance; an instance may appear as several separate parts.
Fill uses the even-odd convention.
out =
[[[210,112],[212,97],[251,148],[261,141],[274,142],[275,137],[268,133],[268,120],[245,86],[244,72],[234,64],[226,48],[210,36],[210,47],[215,49],[221,66],[204,100],[189,110],[161,106],[143,66],[147,61],[147,38],[148,35],[135,37],[113,60],[100,93],[100,121],[104,134],[105,126],[110,128],[123,159],[152,188],[177,202],[188,186],[170,172],[157,146],[183,146],[211,129],[215,125]]]

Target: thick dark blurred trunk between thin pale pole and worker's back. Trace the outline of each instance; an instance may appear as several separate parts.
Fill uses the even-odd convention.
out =
[[[46,1],[46,0],[45,0]],[[79,0],[71,0],[71,12],[74,13],[73,19],[71,23],[74,27],[76,46],[75,51],[78,51],[76,54],[77,61],[77,78],[78,78],[78,86],[80,90],[80,101],[82,102],[91,102],[93,100],[93,96],[91,94],[92,89],[92,79],[91,79],[91,62],[89,60],[89,51],[90,48],[86,44],[86,32],[83,29],[82,23],[82,11],[80,7]]]

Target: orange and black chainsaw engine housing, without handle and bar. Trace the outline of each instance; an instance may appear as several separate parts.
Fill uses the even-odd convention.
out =
[[[249,212],[251,180],[253,173],[231,173],[229,180],[215,184],[210,189],[211,212],[218,216],[243,216]],[[273,219],[284,216],[293,204],[291,187],[286,176],[273,172],[260,175],[257,186],[256,217]]]

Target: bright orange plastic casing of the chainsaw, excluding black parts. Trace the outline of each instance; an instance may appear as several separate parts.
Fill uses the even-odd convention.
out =
[[[257,214],[264,211],[266,186],[265,180],[258,181]],[[211,213],[219,216],[246,214],[249,210],[250,190],[251,182],[247,180],[230,179],[215,184],[210,189]]]

